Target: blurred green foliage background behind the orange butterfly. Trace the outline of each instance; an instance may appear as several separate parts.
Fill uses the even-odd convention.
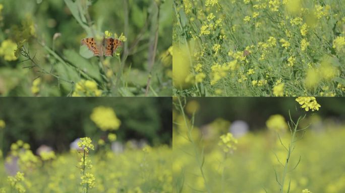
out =
[[[172,0],[0,0],[0,94],[66,96],[87,79],[97,83],[102,96],[171,95],[171,7]],[[88,15],[90,21],[84,22]],[[85,57],[80,41],[91,37],[92,30],[99,36],[123,33],[127,41],[118,51],[120,58],[114,53],[100,64],[98,57]],[[23,56],[9,59],[24,39],[41,68],[23,68],[33,65],[20,62]],[[33,82],[37,77],[41,81]]]

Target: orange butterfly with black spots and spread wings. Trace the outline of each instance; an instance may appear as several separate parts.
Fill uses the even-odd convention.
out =
[[[122,46],[122,42],[119,39],[103,38],[100,42],[101,45],[96,44],[94,38],[84,38],[81,40],[81,45],[85,45],[93,52],[94,56],[112,56],[114,51]]]

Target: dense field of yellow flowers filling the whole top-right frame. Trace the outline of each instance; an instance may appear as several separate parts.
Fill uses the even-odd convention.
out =
[[[343,96],[345,4],[177,0],[174,94]]]

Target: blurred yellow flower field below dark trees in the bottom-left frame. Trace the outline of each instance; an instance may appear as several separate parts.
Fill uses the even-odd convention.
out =
[[[24,147],[23,147],[24,146]],[[7,175],[1,158],[0,192],[171,192],[171,148],[145,147],[114,154],[109,149],[89,151],[92,161],[82,172],[81,152],[34,155],[29,145],[18,141],[12,153],[19,155],[19,173]],[[21,152],[19,152],[21,151]],[[85,177],[83,177],[85,176]],[[88,190],[84,190],[85,184]]]

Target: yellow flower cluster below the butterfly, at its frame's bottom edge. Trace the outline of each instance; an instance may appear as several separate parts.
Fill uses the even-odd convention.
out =
[[[80,80],[76,84],[76,88],[72,96],[101,96],[102,90],[97,88],[97,83],[94,80]]]

